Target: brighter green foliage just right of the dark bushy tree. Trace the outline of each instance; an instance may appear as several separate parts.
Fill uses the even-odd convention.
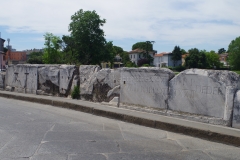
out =
[[[205,52],[206,68],[220,68],[222,63],[219,60],[219,55],[215,51]]]

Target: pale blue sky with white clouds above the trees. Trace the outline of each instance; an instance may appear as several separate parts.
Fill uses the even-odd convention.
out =
[[[0,5],[1,38],[18,51],[43,48],[46,32],[69,35],[71,16],[80,9],[106,19],[106,40],[125,51],[136,42],[155,41],[158,53],[176,45],[217,52],[240,36],[240,0],[2,0]]]

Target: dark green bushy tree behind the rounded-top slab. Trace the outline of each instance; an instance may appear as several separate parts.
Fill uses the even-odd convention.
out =
[[[188,51],[189,56],[185,59],[185,66],[187,68],[205,68],[206,67],[206,55],[203,51],[199,51],[197,48],[190,49]]]

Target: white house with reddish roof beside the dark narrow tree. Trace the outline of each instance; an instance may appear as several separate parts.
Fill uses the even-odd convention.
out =
[[[177,67],[182,65],[182,59],[175,62],[172,60],[172,52],[162,52],[154,55],[154,65],[156,67]]]

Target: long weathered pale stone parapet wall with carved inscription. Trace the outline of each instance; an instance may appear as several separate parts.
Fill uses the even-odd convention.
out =
[[[81,100],[240,128],[240,77],[231,71],[26,64],[0,74],[0,89],[14,92],[68,97],[76,85]]]

